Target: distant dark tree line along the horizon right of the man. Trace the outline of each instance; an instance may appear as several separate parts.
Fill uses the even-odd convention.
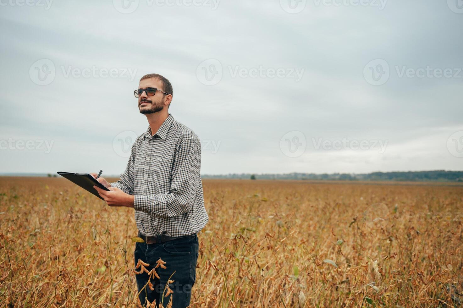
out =
[[[365,174],[332,173],[286,173],[250,174],[233,173],[227,175],[202,175],[204,179],[252,179],[252,180],[329,180],[329,181],[407,181],[407,182],[463,182],[463,171],[408,171],[372,172]]]

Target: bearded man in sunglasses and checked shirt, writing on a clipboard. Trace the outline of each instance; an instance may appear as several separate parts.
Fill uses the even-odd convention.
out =
[[[136,275],[141,304],[148,300],[157,306],[163,302],[165,307],[170,295],[163,297],[163,291],[175,272],[170,278],[174,282],[169,283],[174,291],[172,307],[183,308],[190,303],[196,280],[196,233],[209,219],[200,176],[201,144],[191,129],[168,112],[172,101],[169,80],[158,74],[144,75],[134,92],[140,113],[148,119],[148,129],[132,145],[119,181],[108,183],[98,178],[110,191],[94,188],[107,205],[135,209],[138,236],[144,240],[135,244],[135,264],[141,259],[150,264],[146,267],[150,271],[159,258],[166,262],[165,269],[156,268],[160,278],[148,277],[146,272]]]

